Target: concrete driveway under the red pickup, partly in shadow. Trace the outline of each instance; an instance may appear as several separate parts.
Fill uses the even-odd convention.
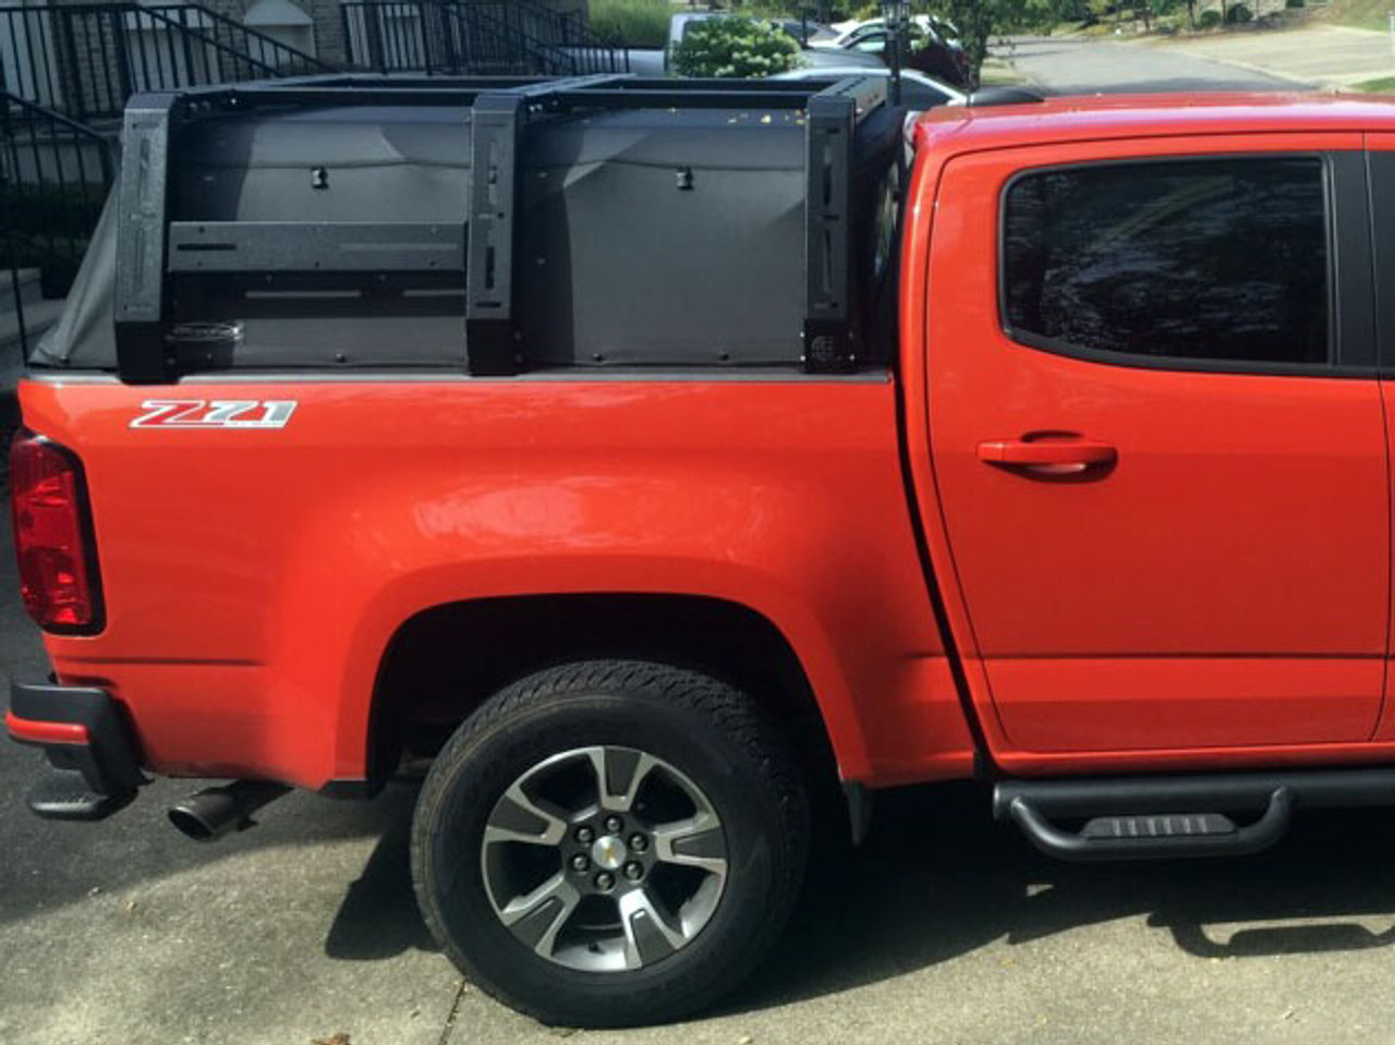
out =
[[[3,523],[0,523],[3,526]],[[0,529],[0,663],[43,671]],[[32,819],[38,756],[0,744],[0,1042],[548,1042],[463,984],[416,912],[398,784],[297,794],[211,845],[158,781],[100,825]],[[576,1041],[1368,1042],[1395,1024],[1395,816],[1304,822],[1236,862],[1080,868],[976,788],[883,795],[873,834],[769,968],[693,1023]]]

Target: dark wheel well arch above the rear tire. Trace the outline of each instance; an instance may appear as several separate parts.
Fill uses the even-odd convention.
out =
[[[654,660],[752,693],[785,731],[816,790],[837,763],[809,679],[784,635],[735,603],[696,596],[526,596],[418,612],[388,643],[374,689],[368,774],[434,755],[506,684],[598,657]]]

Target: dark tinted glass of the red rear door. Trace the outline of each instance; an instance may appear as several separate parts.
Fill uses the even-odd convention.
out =
[[[1175,359],[1325,363],[1317,158],[1050,170],[1007,191],[1014,338]]]

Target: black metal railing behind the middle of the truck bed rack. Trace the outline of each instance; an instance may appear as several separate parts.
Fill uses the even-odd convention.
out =
[[[349,66],[427,75],[624,73],[629,53],[591,33],[579,14],[527,0],[346,0]]]

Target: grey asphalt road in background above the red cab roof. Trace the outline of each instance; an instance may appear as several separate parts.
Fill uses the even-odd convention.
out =
[[[995,50],[1055,93],[1120,91],[1293,91],[1306,84],[1147,45],[1053,36]]]

